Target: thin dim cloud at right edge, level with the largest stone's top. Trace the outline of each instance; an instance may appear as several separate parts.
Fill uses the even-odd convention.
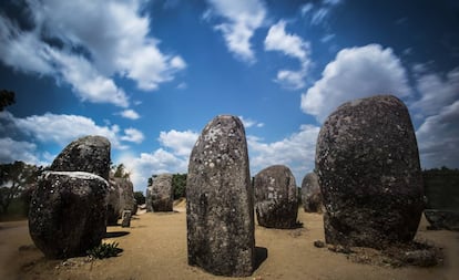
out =
[[[421,97],[414,102],[410,108],[418,111],[422,116],[438,114],[443,106],[459,97],[459,68],[447,73],[443,79],[434,73],[420,75],[417,80],[417,90]]]

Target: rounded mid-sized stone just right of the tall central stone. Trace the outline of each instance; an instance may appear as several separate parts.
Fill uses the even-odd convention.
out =
[[[294,228],[298,215],[295,177],[284,165],[273,165],[255,175],[255,210],[258,225]]]

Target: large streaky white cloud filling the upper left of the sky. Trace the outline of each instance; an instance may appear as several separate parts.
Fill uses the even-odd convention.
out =
[[[160,42],[149,37],[149,14],[141,14],[141,0],[26,4],[31,30],[20,30],[0,14],[0,60],[26,73],[63,80],[82,100],[128,107],[128,95],[113,76],[126,76],[150,91],[186,68],[180,55],[161,52]],[[62,48],[49,39],[59,40]]]

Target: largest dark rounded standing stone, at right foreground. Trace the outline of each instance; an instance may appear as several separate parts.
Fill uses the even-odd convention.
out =
[[[410,241],[424,209],[411,120],[391,95],[339,106],[324,123],[316,170],[328,243],[384,248]]]

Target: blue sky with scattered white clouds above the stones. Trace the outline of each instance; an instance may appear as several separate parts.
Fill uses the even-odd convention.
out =
[[[459,3],[2,1],[0,87],[0,163],[103,135],[137,190],[186,173],[218,114],[243,120],[253,175],[284,164],[300,185],[327,115],[380,93],[407,104],[422,168],[459,167]]]

